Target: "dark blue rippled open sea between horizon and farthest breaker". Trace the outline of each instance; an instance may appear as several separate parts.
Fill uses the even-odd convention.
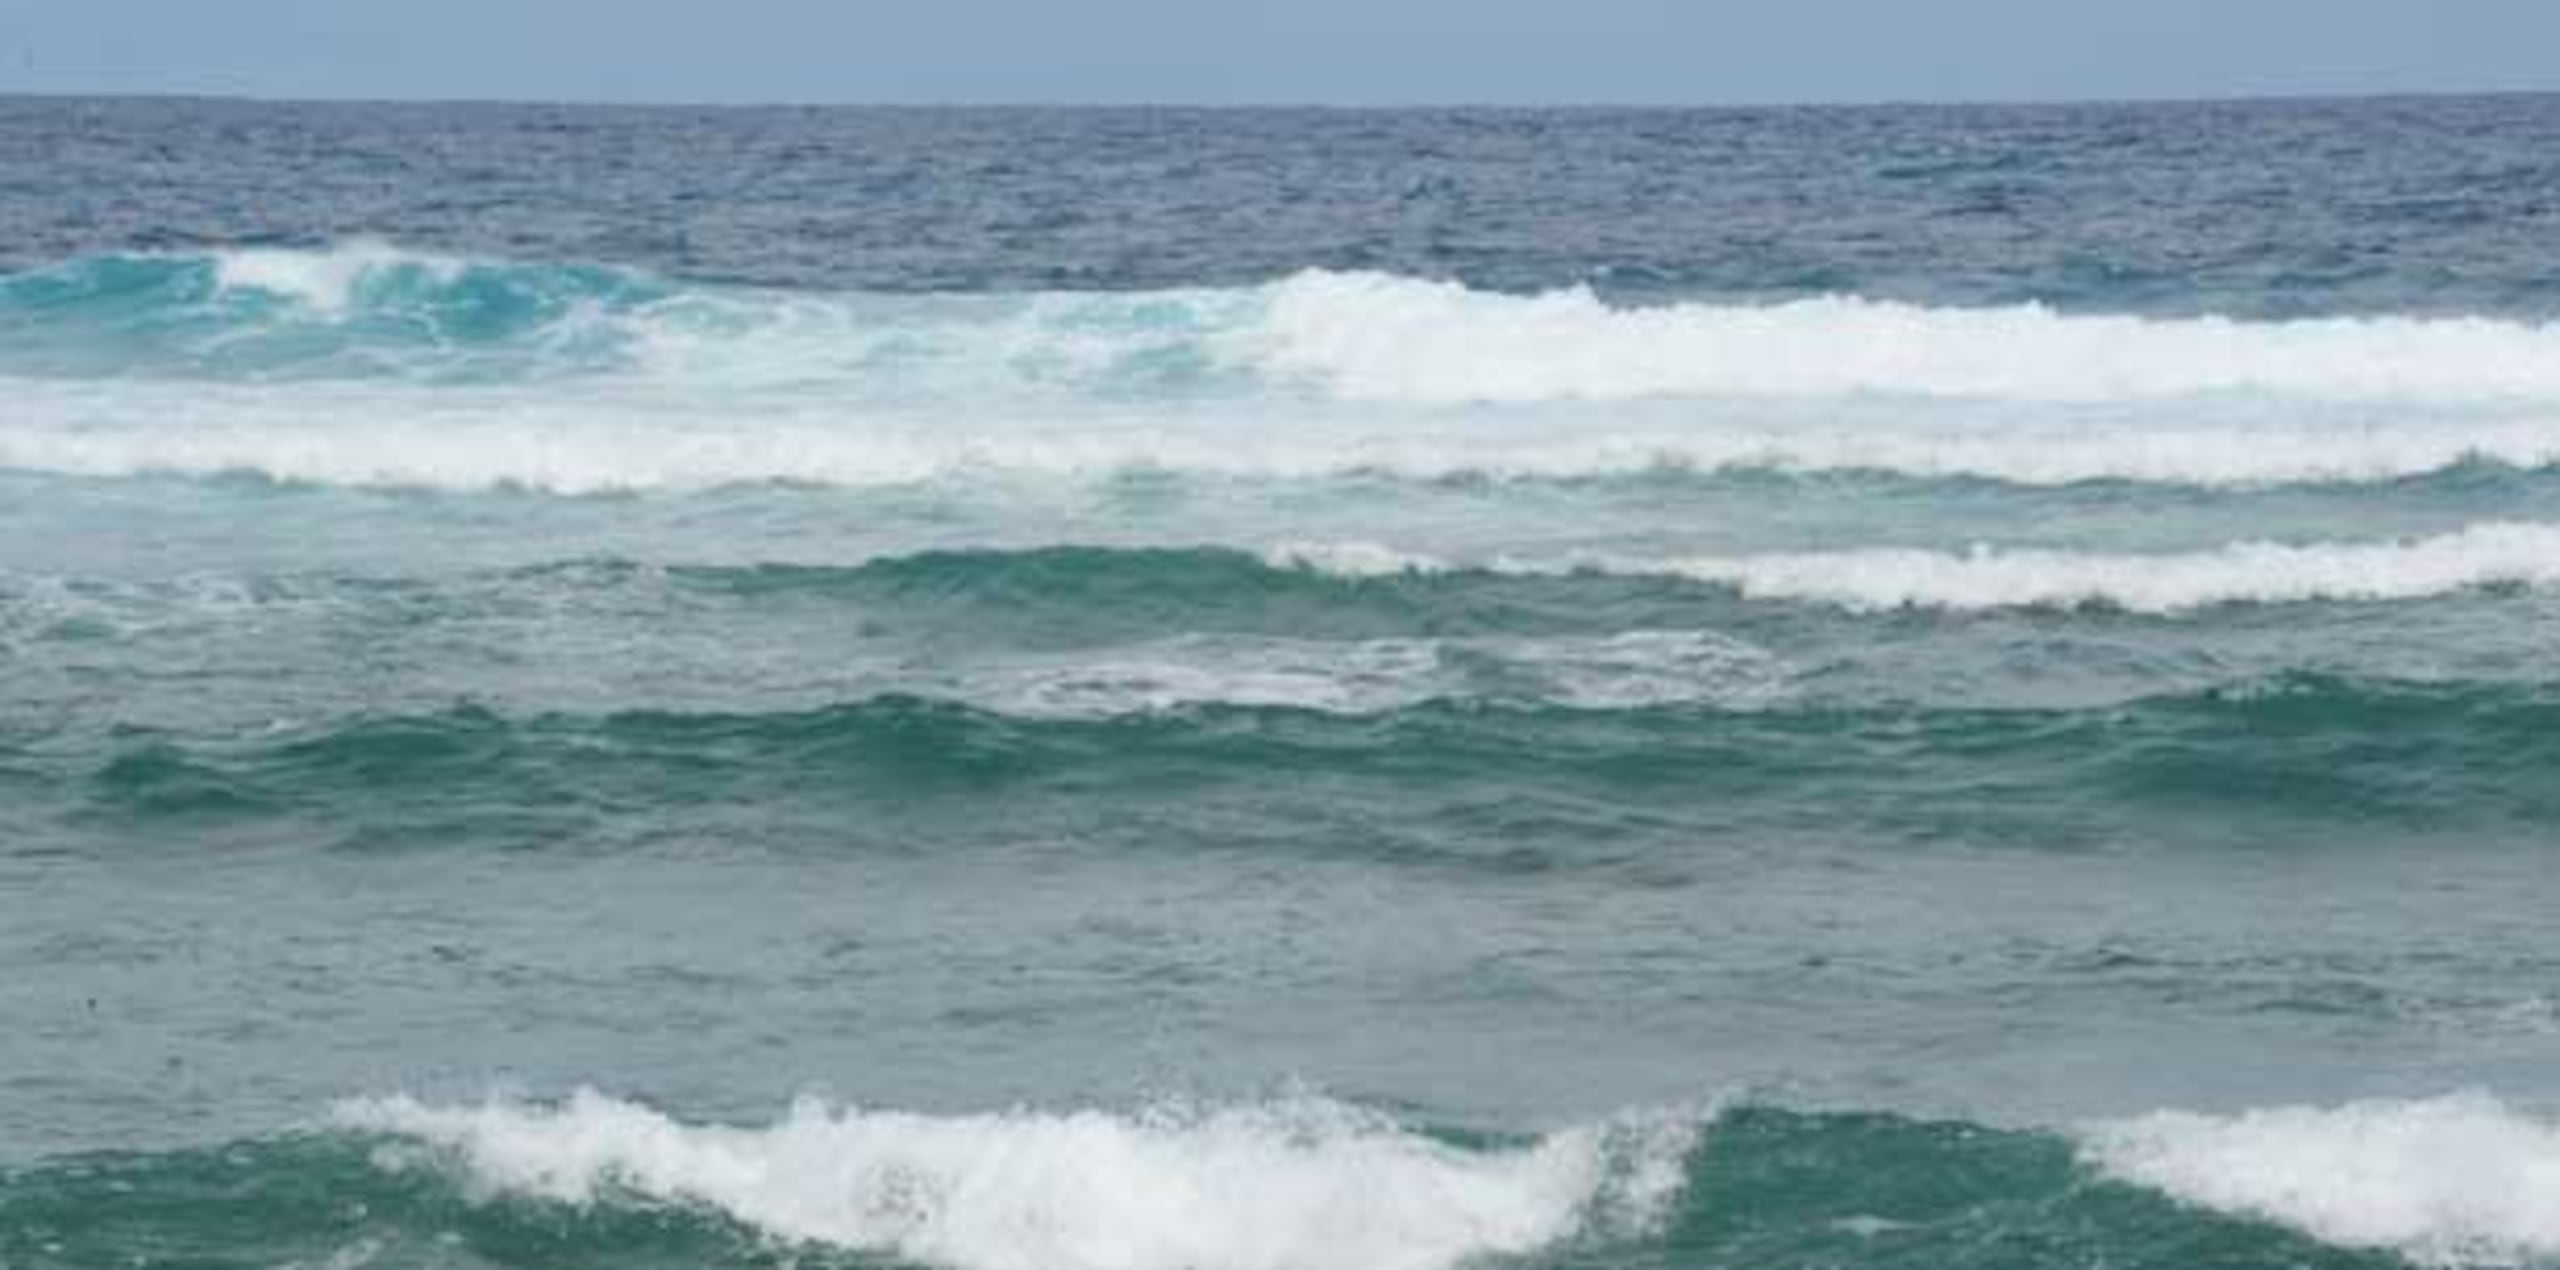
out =
[[[668,110],[13,100],[0,264],[330,246],[881,292],[2560,307],[2560,100]]]

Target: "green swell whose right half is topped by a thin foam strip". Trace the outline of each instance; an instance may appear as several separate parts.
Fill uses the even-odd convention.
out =
[[[509,543],[515,545],[515,543]],[[778,538],[776,548],[791,540]],[[535,543],[540,548],[540,543]],[[804,622],[835,653],[865,640],[1108,655],[1267,638],[1352,655],[1359,640],[1597,645],[1687,632],[1861,661],[1897,640],[2140,638],[2189,648],[2304,622],[2404,620],[2442,658],[2537,622],[2560,594],[2560,525],[2478,522],[2381,540],[2240,540],[2202,551],[1853,548],[1828,553],[1434,556],[1375,543],[1029,545],[886,551],[845,563],[648,563],[586,556],[463,571],[202,571],[84,579],[0,568],[0,645],[284,632],[399,643],[484,622]],[[2450,622],[2450,625],[2447,625]],[[2463,627],[2460,622],[2468,622]],[[2514,643],[2514,640],[2491,640]],[[2245,645],[2225,643],[2230,653]],[[2355,645],[2307,648],[2348,653]],[[2524,640],[2519,648],[2532,648]],[[2376,648],[2391,653],[2391,648]],[[1531,655],[1531,661],[1539,661]],[[2404,658],[2399,658],[2404,661]],[[2442,663],[2442,661],[2440,661]],[[2532,666],[2509,658],[2509,673]],[[2296,663],[2304,666],[2304,663]],[[2327,666],[2314,661],[2307,666]],[[2360,663],[2363,666],[2363,663]],[[2378,655],[2365,671],[2394,673]],[[2255,668],[2255,666],[2253,666]],[[2263,671],[2286,666],[2263,666]],[[2360,673],[2365,673],[2360,671]]]

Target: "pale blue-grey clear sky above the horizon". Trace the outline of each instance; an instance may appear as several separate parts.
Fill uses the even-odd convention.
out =
[[[1882,102],[2560,87],[2560,0],[0,0],[0,92]]]

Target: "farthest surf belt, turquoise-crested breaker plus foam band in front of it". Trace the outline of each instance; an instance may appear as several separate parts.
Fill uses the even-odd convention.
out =
[[[1613,307],[1308,271],[712,287],[379,243],[0,274],[0,466],[558,492],[970,469],[2376,481],[2560,461],[2560,330],[1830,297]]]

